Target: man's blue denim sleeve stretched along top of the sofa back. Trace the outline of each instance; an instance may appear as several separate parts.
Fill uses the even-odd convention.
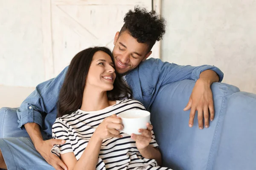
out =
[[[159,76],[162,80],[161,85],[184,79],[192,79],[197,81],[200,74],[206,70],[215,71],[218,74],[219,82],[221,82],[224,77],[223,72],[219,68],[212,65],[201,65],[194,67],[191,65],[177,65],[175,63],[162,62],[160,59],[155,59],[155,63],[157,64]]]

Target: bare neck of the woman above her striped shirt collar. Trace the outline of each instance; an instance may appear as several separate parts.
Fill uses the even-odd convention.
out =
[[[89,90],[88,88],[84,89],[81,105],[82,111],[99,111],[114,104],[113,101],[108,100],[107,91],[102,92]]]

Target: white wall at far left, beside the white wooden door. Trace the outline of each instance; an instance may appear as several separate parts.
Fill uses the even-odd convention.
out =
[[[44,81],[41,0],[0,0],[0,85]]]

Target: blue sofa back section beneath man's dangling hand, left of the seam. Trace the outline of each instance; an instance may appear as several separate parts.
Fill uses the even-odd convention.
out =
[[[183,80],[163,86],[151,106],[151,122],[162,153],[163,165],[175,170],[210,170],[218,151],[227,99],[239,88],[213,83],[215,118],[208,128],[189,127],[190,111],[183,111],[195,85]]]

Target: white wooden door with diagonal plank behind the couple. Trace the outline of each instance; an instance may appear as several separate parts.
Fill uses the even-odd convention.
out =
[[[45,79],[58,75],[85,48],[100,45],[112,50],[123,17],[136,5],[151,10],[151,0],[42,1]],[[159,3],[155,10],[159,13]],[[160,42],[152,51],[151,57],[160,57]]]

